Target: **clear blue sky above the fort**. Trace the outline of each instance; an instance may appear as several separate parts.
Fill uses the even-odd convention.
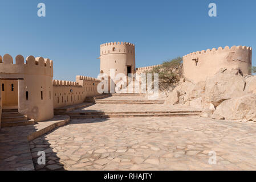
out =
[[[38,3],[46,17],[38,17]],[[209,17],[208,5],[217,5]],[[225,46],[253,47],[255,0],[1,0],[0,55],[48,57],[54,78],[96,77],[100,44],[130,42],[136,67],[160,64],[187,53]]]

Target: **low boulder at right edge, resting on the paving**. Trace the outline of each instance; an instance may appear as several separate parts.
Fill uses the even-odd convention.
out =
[[[225,100],[217,106],[214,114],[230,120],[256,121],[256,94],[246,94],[245,96]]]

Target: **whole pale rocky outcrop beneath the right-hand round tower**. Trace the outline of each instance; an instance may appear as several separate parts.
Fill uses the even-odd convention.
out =
[[[201,117],[256,121],[256,76],[222,68],[197,84],[182,78],[165,104],[201,107]]]

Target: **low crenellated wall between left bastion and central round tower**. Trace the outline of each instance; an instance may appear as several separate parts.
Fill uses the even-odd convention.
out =
[[[97,92],[99,80],[92,77],[76,76],[76,81],[53,80],[54,108],[81,104],[86,97],[100,95]]]

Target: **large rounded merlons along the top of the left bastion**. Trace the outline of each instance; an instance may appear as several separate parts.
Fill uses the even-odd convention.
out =
[[[17,55],[15,63],[13,63],[13,57],[6,54],[3,57],[0,56],[0,72],[52,76],[53,61],[43,57],[35,58],[34,56],[28,56],[24,61],[22,55]]]

